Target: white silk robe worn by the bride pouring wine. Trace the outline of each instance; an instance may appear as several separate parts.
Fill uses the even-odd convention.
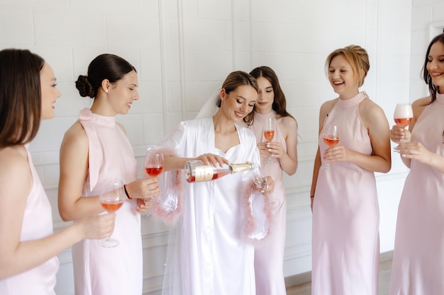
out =
[[[211,117],[180,123],[161,145],[182,157],[211,153],[231,163],[260,163],[254,134],[236,127],[240,144],[226,153],[214,145]],[[184,184],[182,218],[169,244],[163,295],[255,295],[254,248],[243,235],[245,173]]]

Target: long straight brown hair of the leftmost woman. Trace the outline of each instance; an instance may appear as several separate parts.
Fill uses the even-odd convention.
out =
[[[27,144],[40,127],[40,71],[45,60],[29,50],[0,51],[0,148]]]

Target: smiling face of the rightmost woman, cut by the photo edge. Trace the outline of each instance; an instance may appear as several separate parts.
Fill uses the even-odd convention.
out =
[[[433,85],[439,87],[440,93],[444,93],[444,44],[442,42],[433,43],[426,67]]]

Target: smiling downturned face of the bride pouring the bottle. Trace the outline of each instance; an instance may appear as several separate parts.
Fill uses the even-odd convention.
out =
[[[228,94],[225,92],[225,89],[222,89],[221,100],[221,109],[226,117],[234,122],[240,122],[246,115],[252,112],[252,108],[257,100],[257,92],[250,85],[238,86]]]

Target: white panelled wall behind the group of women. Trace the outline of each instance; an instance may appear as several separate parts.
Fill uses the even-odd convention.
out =
[[[309,187],[316,153],[318,109],[334,98],[324,74],[326,56],[338,47],[367,48],[371,69],[362,90],[384,108],[426,95],[417,60],[428,42],[428,22],[443,21],[443,1],[432,0],[0,0],[0,48],[23,47],[55,69],[62,98],[57,117],[43,122],[31,144],[33,159],[52,203],[55,230],[58,153],[65,130],[90,101],[74,80],[103,52],[138,69],[140,100],[125,125],[141,163],[180,120],[194,117],[235,69],[269,65],[279,75],[289,112],[299,122],[299,169],[286,178],[286,276],[311,270]],[[412,8],[413,6],[413,8]],[[439,19],[441,17],[441,19]],[[412,42],[411,42],[412,40]],[[412,43],[412,46],[411,46]],[[412,68],[412,70],[411,70]],[[381,251],[392,250],[396,208],[406,168],[378,174]],[[141,166],[140,166],[141,167]],[[141,170],[140,170],[141,172]],[[165,226],[143,217],[144,294],[160,294],[167,243]],[[59,255],[57,294],[73,294],[70,250]]]

